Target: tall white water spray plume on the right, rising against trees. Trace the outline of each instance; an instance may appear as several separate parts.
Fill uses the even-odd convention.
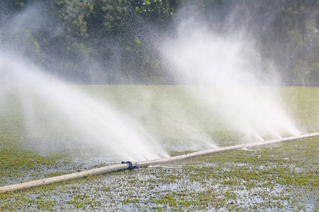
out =
[[[209,111],[207,116],[218,117],[246,139],[299,135],[275,87],[264,86],[269,81],[263,81],[260,56],[251,40],[240,33],[217,35],[198,28],[205,24],[194,23],[182,23],[178,35],[161,49],[177,79],[196,85],[187,92]]]

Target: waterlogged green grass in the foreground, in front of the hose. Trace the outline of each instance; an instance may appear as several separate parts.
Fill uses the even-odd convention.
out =
[[[318,211],[318,146],[317,137],[89,176],[0,194],[0,210]]]

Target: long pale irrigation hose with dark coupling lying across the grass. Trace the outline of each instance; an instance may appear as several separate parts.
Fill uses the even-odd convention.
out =
[[[99,167],[99,168],[96,168],[93,170],[86,170],[83,172],[77,172],[77,173],[73,173],[73,174],[69,174],[69,175],[61,175],[61,176],[57,176],[57,177],[38,179],[35,181],[31,181],[31,182],[23,182],[23,183],[19,183],[19,184],[12,184],[12,185],[8,185],[8,186],[0,187],[0,194],[5,193],[5,192],[14,192],[14,191],[23,190],[23,189],[29,189],[32,187],[39,187],[39,186],[43,186],[43,185],[47,185],[47,184],[52,184],[55,182],[62,182],[62,181],[67,181],[67,180],[71,180],[71,179],[78,179],[78,178],[86,177],[89,175],[102,175],[102,174],[106,174],[106,173],[110,173],[110,172],[118,172],[121,170],[133,170],[133,169],[136,169],[138,167],[145,167],[148,165],[159,165],[159,164],[164,164],[164,163],[173,163],[176,161],[186,160],[188,158],[196,158],[196,157],[203,156],[203,155],[211,155],[213,153],[221,153],[221,152],[236,150],[236,149],[240,149],[240,148],[252,148],[252,147],[257,147],[257,146],[267,146],[267,145],[272,145],[272,144],[286,142],[286,141],[296,141],[296,140],[300,140],[300,139],[306,139],[306,138],[310,138],[313,136],[319,136],[319,132],[313,133],[313,134],[306,134],[306,135],[302,135],[302,136],[293,136],[293,137],[288,137],[288,138],[284,138],[284,139],[274,139],[274,140],[270,140],[270,141],[259,141],[259,142],[254,142],[254,143],[243,143],[243,144],[239,144],[239,145],[235,145],[235,146],[227,146],[227,147],[222,147],[222,148],[212,148],[212,149],[208,149],[208,150],[204,150],[204,151],[188,153],[185,155],[178,155],[178,156],[174,156],[171,158],[162,158],[162,159],[157,159],[157,160],[145,160],[145,161],[140,161],[140,162],[136,162],[136,163],[130,162],[130,161],[122,162],[121,164],[117,164],[117,165],[109,165],[106,167]]]

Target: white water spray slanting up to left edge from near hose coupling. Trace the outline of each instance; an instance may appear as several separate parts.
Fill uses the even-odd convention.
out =
[[[52,137],[57,140],[66,136],[69,143],[85,141],[122,160],[168,156],[138,122],[124,117],[107,102],[90,98],[67,83],[4,54],[0,54],[0,74],[0,114],[10,114],[11,101],[16,96],[31,139],[40,138],[48,143]]]

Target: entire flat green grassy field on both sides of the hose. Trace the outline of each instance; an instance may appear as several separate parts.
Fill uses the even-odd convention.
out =
[[[164,143],[177,140],[180,145],[189,136],[159,119],[159,114],[170,112],[164,106],[183,107],[176,118],[196,120],[191,126],[202,126],[218,146],[236,143],[240,134],[218,119],[207,120],[207,111],[199,111],[200,102],[192,102],[182,87],[77,86],[134,114]],[[274,89],[303,133],[319,131],[319,88]],[[0,186],[121,162],[99,160],[96,155],[101,153],[96,151],[74,158],[87,151],[86,146],[49,148],[43,153],[24,139],[20,114],[18,110],[13,114],[1,117]],[[212,123],[214,130],[209,129]],[[319,138],[313,137],[0,194],[0,211],[319,211],[318,146]],[[168,151],[184,153],[176,148]]]

